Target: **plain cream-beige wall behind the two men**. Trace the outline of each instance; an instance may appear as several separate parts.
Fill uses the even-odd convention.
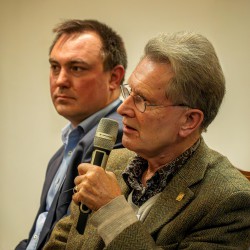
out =
[[[98,19],[125,40],[129,68],[159,32],[198,31],[214,44],[227,80],[220,113],[204,136],[250,170],[250,1],[248,0],[1,0],[0,249],[26,237],[38,208],[47,162],[66,121],[49,95],[52,28],[66,18]]]

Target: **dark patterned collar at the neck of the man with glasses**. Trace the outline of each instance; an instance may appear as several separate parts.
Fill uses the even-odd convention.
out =
[[[166,164],[155,172],[155,174],[147,180],[146,187],[143,186],[141,179],[142,174],[148,168],[148,162],[138,155],[135,156],[122,174],[124,181],[131,188],[131,190],[133,190],[133,203],[140,207],[149,198],[162,192],[171,178],[193,155],[199,144],[200,140],[198,140],[192,147],[187,149],[172,162]]]

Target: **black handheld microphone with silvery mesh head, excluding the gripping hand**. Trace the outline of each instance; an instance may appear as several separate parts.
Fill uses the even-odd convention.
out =
[[[94,137],[94,151],[91,157],[91,164],[105,169],[110,151],[116,142],[118,128],[118,122],[113,119],[102,118],[100,120]],[[83,234],[91,210],[84,204],[81,204],[79,208],[80,214],[76,230],[79,234]]]

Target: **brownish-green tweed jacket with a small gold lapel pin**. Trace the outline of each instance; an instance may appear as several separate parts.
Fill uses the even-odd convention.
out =
[[[126,149],[113,150],[108,168],[121,178],[130,161]],[[181,194],[181,195],[180,195]],[[172,178],[144,222],[135,222],[105,246],[88,221],[84,235],[76,231],[78,206],[57,223],[45,246],[53,249],[248,249],[250,247],[250,183],[221,154],[201,144]]]

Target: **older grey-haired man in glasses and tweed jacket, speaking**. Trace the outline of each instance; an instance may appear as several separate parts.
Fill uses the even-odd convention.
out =
[[[153,38],[122,92],[122,142],[136,154],[113,150],[106,171],[79,165],[73,200],[93,210],[85,233],[72,204],[45,249],[247,249],[250,184],[201,136],[225,94],[211,43]]]

